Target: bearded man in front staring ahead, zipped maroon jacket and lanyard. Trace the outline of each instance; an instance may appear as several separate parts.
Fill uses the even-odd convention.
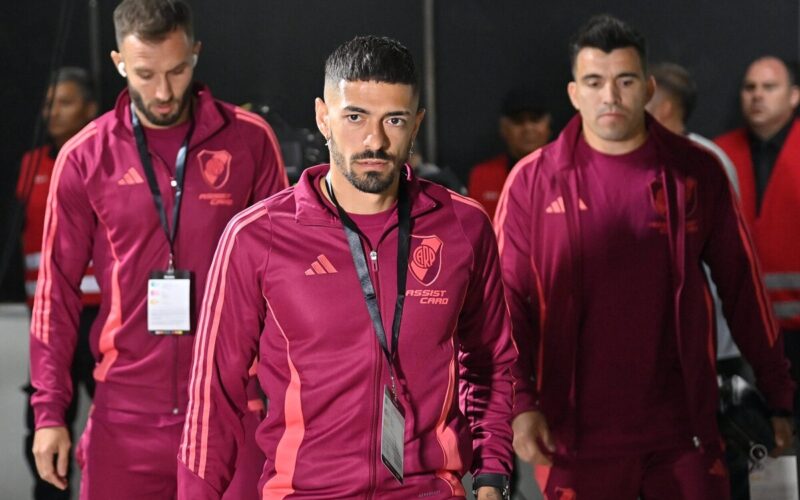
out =
[[[358,37],[325,66],[331,165],[239,214],[200,316],[179,498],[234,471],[249,367],[270,401],[262,498],[507,493],[515,349],[475,201],[405,164],[424,111],[408,50]]]

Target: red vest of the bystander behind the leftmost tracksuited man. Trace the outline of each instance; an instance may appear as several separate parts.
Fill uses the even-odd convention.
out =
[[[25,294],[28,296],[29,307],[33,307],[33,296],[36,293],[36,279],[39,274],[39,262],[42,258],[44,211],[47,205],[50,176],[53,174],[55,163],[52,146],[42,146],[28,151],[22,157],[17,181],[17,199],[25,202],[22,251],[25,256]],[[84,305],[100,305],[100,288],[91,265],[86,270],[80,286],[81,301]]]

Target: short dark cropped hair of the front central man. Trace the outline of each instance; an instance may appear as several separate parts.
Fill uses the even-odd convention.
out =
[[[325,61],[325,81],[382,82],[411,85],[419,94],[419,78],[408,49],[393,38],[357,36],[339,45]]]

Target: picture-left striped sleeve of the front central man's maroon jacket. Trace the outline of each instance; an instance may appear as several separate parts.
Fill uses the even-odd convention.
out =
[[[257,204],[237,215],[217,246],[194,344],[189,407],[178,451],[178,498],[220,498],[245,441],[250,367],[266,311],[260,286],[265,242],[248,251],[241,231],[266,216]],[[253,242],[249,241],[249,248]]]

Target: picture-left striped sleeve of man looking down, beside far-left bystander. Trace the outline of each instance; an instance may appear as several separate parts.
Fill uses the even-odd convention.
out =
[[[56,160],[45,211],[30,330],[36,429],[65,425],[64,413],[72,401],[70,367],[81,310],[80,283],[96,227],[75,144],[68,142]]]

